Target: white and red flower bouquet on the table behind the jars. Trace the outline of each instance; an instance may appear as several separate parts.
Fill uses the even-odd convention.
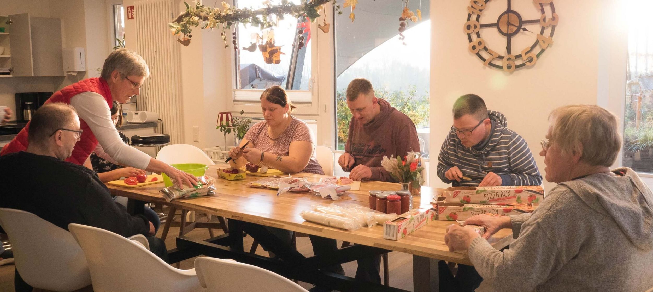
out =
[[[422,171],[419,166],[419,153],[409,152],[404,156],[383,156],[381,166],[390,173],[390,176],[402,184],[402,190],[409,190],[413,196],[420,196],[422,192]]]

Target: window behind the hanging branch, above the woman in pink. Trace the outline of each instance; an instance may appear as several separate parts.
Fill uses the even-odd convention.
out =
[[[300,4],[299,0],[290,1]],[[281,1],[271,1],[272,5]],[[260,0],[238,0],[238,7],[261,7]],[[274,21],[274,17],[273,21]],[[300,40],[300,31],[304,40]],[[287,15],[278,20],[276,27],[261,30],[258,26],[239,24],[237,28],[238,50],[236,53],[236,89],[266,89],[279,85],[285,89],[309,90],[311,78],[311,29],[305,18]],[[272,40],[274,46],[268,45]],[[304,47],[299,48],[300,42]],[[261,93],[252,93],[255,100]],[[241,94],[248,100],[251,96]],[[294,101],[294,98],[293,98]],[[310,94],[308,95],[310,101]]]

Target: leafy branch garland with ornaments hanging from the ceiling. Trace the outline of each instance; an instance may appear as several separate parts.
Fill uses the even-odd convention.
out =
[[[261,30],[276,26],[279,20],[283,20],[284,16],[290,15],[293,18],[306,17],[310,22],[315,22],[317,18],[320,17],[320,10],[324,7],[323,5],[327,3],[332,3],[334,9],[338,14],[342,14],[340,11],[340,5],[336,3],[338,0],[302,0],[300,4],[289,3],[288,0],[281,0],[280,5],[271,5],[269,0],[263,1],[263,8],[253,9],[253,8],[236,8],[229,5],[229,3],[222,2],[222,7],[208,7],[206,5],[201,5],[200,3],[195,3],[195,6],[191,7],[184,1],[183,4],[186,5],[186,11],[182,12],[175,20],[171,23],[168,23],[168,27],[173,35],[181,35],[181,38],[178,39],[178,42],[183,44],[183,46],[188,46],[190,44],[191,38],[193,35],[194,27],[199,27],[200,29],[221,29],[222,39],[225,42],[225,48],[229,46],[227,41],[227,34],[225,31],[231,27],[231,25],[242,23],[244,25],[253,25],[259,27]],[[351,7],[351,13],[349,18],[351,22],[355,20],[354,9],[358,4],[358,0],[344,0],[343,7]],[[421,12],[417,10],[417,16],[414,12],[411,12],[408,8],[408,3],[406,1],[406,6],[402,11],[401,22],[404,22],[406,19],[409,19],[413,22],[417,22],[419,18],[421,20]],[[404,14],[406,14],[404,16]],[[401,25],[401,23],[400,23]],[[400,33],[405,31],[406,23],[404,23],[404,29],[400,27]],[[328,23],[327,20],[324,20],[323,25],[318,25],[319,29],[328,32]],[[232,40],[236,42],[236,40]],[[234,44],[235,45],[235,44]],[[238,50],[238,46],[234,46]],[[272,46],[274,48],[274,46]],[[248,51],[251,49],[251,46],[247,48]],[[273,54],[274,55],[274,54]],[[274,58],[273,58],[274,59]]]

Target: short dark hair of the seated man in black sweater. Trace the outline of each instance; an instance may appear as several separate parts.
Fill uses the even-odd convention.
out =
[[[29,121],[27,141],[30,144],[43,145],[57,129],[71,126],[75,117],[75,109],[70,104],[62,102],[46,103],[34,113],[31,121]]]

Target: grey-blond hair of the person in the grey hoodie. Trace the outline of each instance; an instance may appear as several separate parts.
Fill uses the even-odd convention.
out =
[[[621,148],[617,119],[600,106],[562,106],[549,115],[550,143],[564,154],[581,151],[581,161],[612,166]]]

